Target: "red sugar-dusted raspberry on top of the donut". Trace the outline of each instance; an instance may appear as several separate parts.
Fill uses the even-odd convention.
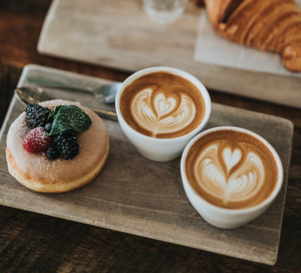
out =
[[[51,138],[43,127],[32,129],[23,141],[24,149],[29,153],[46,151],[51,146]]]

